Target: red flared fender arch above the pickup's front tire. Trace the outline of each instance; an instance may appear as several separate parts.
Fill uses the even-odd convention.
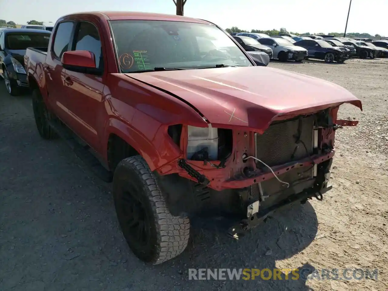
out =
[[[151,171],[154,171],[156,168],[166,163],[166,160],[161,158],[155,146],[150,140],[145,138],[142,133],[137,132],[130,125],[116,118],[110,118],[107,121],[107,125],[105,126],[105,142],[102,146],[102,149],[105,153],[108,151],[108,139],[109,135],[112,133],[125,140],[126,143],[132,146],[133,149],[135,149],[140,154],[140,156],[145,159]]]

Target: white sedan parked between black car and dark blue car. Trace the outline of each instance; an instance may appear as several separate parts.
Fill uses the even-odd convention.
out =
[[[281,62],[287,60],[294,60],[301,62],[307,57],[307,49],[303,47],[297,47],[293,43],[280,37],[263,37],[258,38],[258,42],[262,45],[272,48],[274,52],[273,58],[278,59]]]

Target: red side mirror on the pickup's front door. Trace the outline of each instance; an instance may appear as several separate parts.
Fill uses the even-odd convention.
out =
[[[64,52],[61,58],[64,69],[84,74],[100,75],[96,68],[95,55],[88,50],[73,50]]]

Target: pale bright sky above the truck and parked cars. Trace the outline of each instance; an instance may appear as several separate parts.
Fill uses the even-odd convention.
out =
[[[0,19],[55,22],[83,11],[142,11],[175,14],[173,0],[0,0]],[[222,28],[280,29],[299,33],[343,32],[349,0],[187,0],[184,15],[211,21]],[[353,0],[347,32],[388,36],[388,0]]]

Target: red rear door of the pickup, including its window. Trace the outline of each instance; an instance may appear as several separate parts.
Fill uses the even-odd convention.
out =
[[[74,21],[64,21],[56,26],[54,38],[50,43],[51,49],[44,64],[48,104],[64,123],[68,123],[68,109],[65,105],[63,81],[65,69],[62,67],[61,57],[69,49],[74,26]]]

